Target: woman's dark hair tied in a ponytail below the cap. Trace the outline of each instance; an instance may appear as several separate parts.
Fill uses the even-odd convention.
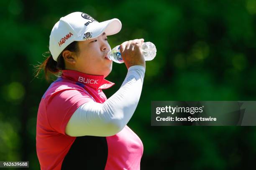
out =
[[[78,48],[77,41],[74,41],[71,44],[69,44],[64,50],[69,50],[71,52],[78,52],[79,48]],[[44,70],[45,79],[47,81],[49,81],[49,78],[50,78],[49,72],[51,74],[59,77],[59,75],[61,74],[61,70],[65,70],[65,62],[64,62],[64,58],[62,56],[62,52],[59,54],[57,61],[55,61],[53,59],[50,51],[44,52],[43,56],[46,57],[46,60],[44,60],[43,63],[39,62],[38,65],[34,65],[35,77],[38,77],[41,70]]]

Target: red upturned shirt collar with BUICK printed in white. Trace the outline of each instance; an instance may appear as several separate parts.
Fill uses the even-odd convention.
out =
[[[115,83],[105,80],[103,75],[89,75],[76,70],[62,70],[61,77],[96,89],[107,89],[115,85]]]

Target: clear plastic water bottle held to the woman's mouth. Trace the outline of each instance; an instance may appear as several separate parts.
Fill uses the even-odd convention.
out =
[[[156,57],[156,46],[152,42],[143,42],[142,53],[145,61],[153,60],[154,57]],[[108,58],[114,62],[123,63],[123,58],[120,53],[120,45],[108,52]]]

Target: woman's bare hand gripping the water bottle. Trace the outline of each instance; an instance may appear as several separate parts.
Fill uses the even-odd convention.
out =
[[[144,39],[125,41],[120,45],[120,52],[127,69],[133,65],[142,65],[146,68],[145,59],[142,55],[141,45]]]

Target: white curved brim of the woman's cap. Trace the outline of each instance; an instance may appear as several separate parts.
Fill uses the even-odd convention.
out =
[[[91,32],[91,35],[92,35],[91,37],[84,38],[84,35],[80,35],[78,37],[78,40],[75,40],[75,41],[90,40],[92,38],[100,36],[103,32],[105,32],[106,35],[114,35],[118,33],[121,30],[121,28],[122,28],[122,23],[117,18],[103,21],[101,23],[94,23],[93,25],[91,25],[90,28],[88,28],[84,32],[84,34],[86,32]]]

